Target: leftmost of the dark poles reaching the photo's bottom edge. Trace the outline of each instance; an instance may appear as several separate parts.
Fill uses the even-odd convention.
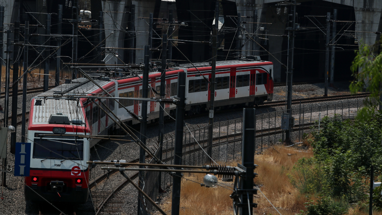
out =
[[[149,52],[150,47],[144,46],[144,68],[142,75],[142,98],[147,98],[148,86],[149,86]],[[141,109],[141,142],[143,145],[146,145],[146,129],[147,129],[147,101],[142,101],[142,109]],[[139,149],[139,163],[145,163],[146,152],[144,148]],[[144,169],[144,166],[139,166],[139,168]],[[143,189],[143,181],[144,181],[144,171],[139,171],[139,187]],[[147,214],[146,210],[143,207],[142,200],[143,196],[138,194],[138,215]]]

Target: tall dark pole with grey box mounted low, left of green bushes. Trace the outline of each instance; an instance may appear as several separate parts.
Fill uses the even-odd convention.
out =
[[[299,4],[299,3],[297,3]],[[290,142],[290,132],[291,128],[293,126],[292,120],[292,84],[293,84],[293,55],[295,52],[295,31],[298,30],[298,25],[296,24],[296,0],[292,0],[292,3],[289,3],[288,5],[291,5],[291,13],[288,15],[288,27],[286,28],[288,30],[288,66],[286,71],[286,83],[288,85],[288,92],[286,96],[286,115],[287,115],[287,129],[285,132],[285,141]],[[291,25],[289,25],[291,23]]]

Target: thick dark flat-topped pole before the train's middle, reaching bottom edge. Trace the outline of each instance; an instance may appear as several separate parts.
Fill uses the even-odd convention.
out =
[[[181,165],[182,163],[182,148],[183,148],[183,123],[185,117],[185,102],[186,102],[186,73],[178,73],[178,97],[179,103],[176,105],[176,121],[175,121],[175,147],[174,147],[174,164]],[[174,168],[180,169],[180,168]],[[171,214],[179,215],[180,206],[180,173],[174,173],[172,178],[172,205]]]

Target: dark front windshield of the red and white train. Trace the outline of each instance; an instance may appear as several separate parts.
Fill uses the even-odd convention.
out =
[[[84,141],[35,138],[33,158],[83,160]]]

